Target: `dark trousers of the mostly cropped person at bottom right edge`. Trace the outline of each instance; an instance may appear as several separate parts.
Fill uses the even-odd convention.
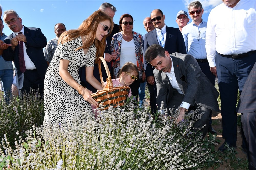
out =
[[[241,122],[246,138],[249,169],[256,169],[256,113],[242,113]]]

